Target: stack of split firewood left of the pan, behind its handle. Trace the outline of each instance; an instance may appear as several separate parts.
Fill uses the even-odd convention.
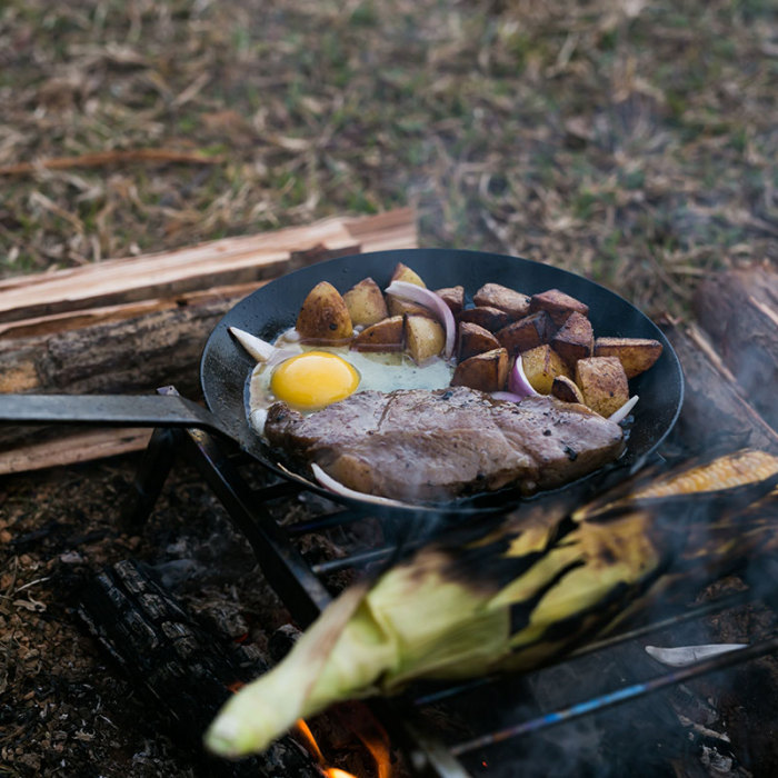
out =
[[[412,210],[397,209],[0,281],[0,392],[151,393],[174,385],[198,399],[205,342],[266,282],[256,279],[416,245]],[[216,280],[231,283],[213,288]],[[124,453],[146,440],[137,430],[0,427],[0,475]]]

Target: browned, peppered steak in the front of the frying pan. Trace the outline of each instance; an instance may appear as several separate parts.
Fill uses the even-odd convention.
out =
[[[520,403],[466,387],[362,391],[303,417],[268,410],[269,443],[357,491],[439,500],[502,487],[531,495],[615,460],[621,428],[552,397]]]

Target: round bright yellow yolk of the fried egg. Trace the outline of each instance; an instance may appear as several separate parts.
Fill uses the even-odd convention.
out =
[[[346,399],[359,386],[359,373],[337,353],[307,351],[281,362],[270,379],[279,399],[298,410],[318,410]]]

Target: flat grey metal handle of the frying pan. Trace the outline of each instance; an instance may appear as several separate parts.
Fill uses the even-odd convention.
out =
[[[2,395],[0,423],[196,427],[235,440],[210,411],[178,395]]]

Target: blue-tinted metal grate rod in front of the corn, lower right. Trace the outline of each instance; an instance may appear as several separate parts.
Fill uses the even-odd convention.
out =
[[[510,738],[528,735],[529,732],[537,732],[541,729],[548,729],[559,724],[572,721],[581,716],[605,710],[606,708],[655,694],[669,686],[682,684],[684,681],[698,678],[708,672],[724,670],[734,665],[740,665],[749,659],[757,659],[768,654],[774,654],[775,651],[778,651],[778,636],[755,644],[754,646],[729,651],[728,654],[721,654],[711,659],[705,659],[689,667],[672,670],[657,678],[652,678],[651,680],[632,684],[631,686],[622,687],[616,691],[610,691],[599,697],[592,697],[584,702],[572,705],[569,708],[562,708],[551,714],[543,714],[535,719],[522,721],[521,724],[506,727],[488,735],[482,735],[472,740],[455,745],[450,750],[455,756],[461,756],[462,754],[468,754],[478,748],[493,746]]]

